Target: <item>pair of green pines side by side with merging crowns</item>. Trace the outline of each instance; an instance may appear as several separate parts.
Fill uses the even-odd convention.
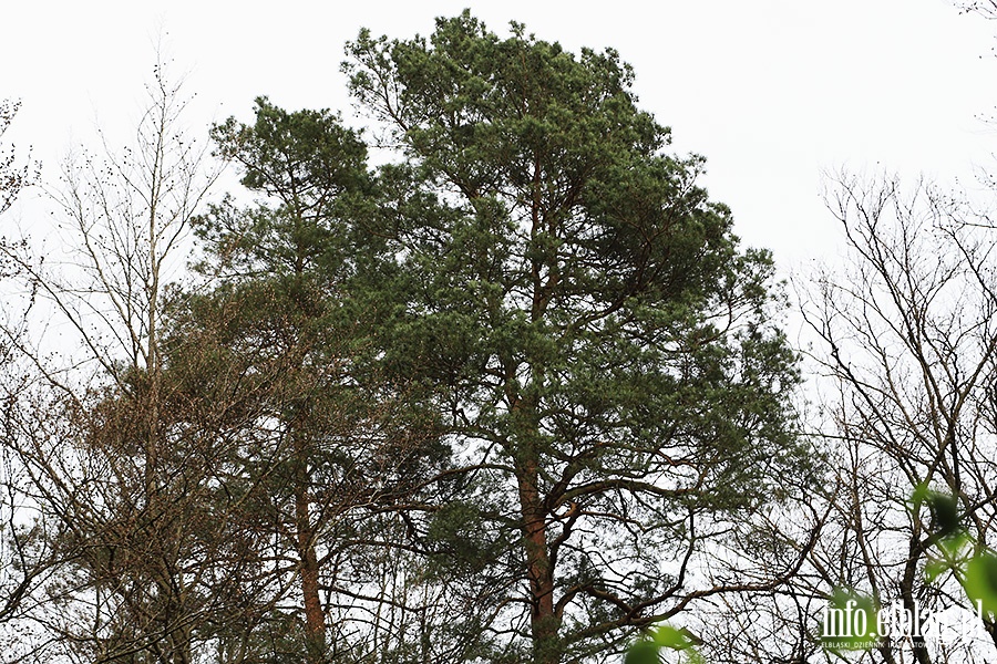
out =
[[[235,579],[212,636],[325,662],[360,639],[338,608],[384,639],[347,660],[619,651],[804,465],[771,257],[613,50],[465,12],[349,53],[393,159],[257,98],[212,135],[259,198],[194,220],[204,283],[165,298],[160,417],[192,443],[164,467],[204,457],[191,536]],[[124,405],[94,440],[137,454]],[[635,649],[700,661],[667,626]]]

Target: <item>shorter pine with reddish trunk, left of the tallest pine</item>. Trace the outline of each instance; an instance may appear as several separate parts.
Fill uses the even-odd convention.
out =
[[[363,227],[374,191],[364,144],[328,112],[265,98],[254,123],[229,120],[213,135],[267,198],[247,209],[228,198],[196,220],[212,289],[175,298],[169,363],[189,366],[195,393],[239,376],[225,395],[237,476],[225,489],[260,556],[278,561],[268,587],[300,593],[295,631],[279,641],[307,647],[285,660],[326,662],[335,644],[321,588],[346,574],[340,560],[347,584],[363,582],[376,566],[351,543],[381,537],[368,519],[407,500],[445,446],[434,445],[434,415],[407,402],[404,380],[382,380],[372,362],[392,309],[369,288],[390,266]],[[275,639],[253,649],[294,652]]]

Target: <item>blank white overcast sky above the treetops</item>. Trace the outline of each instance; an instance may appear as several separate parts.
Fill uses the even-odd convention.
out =
[[[96,123],[124,142],[161,31],[174,71],[189,72],[195,128],[248,118],[260,94],[349,117],[347,40],[361,27],[425,34],[464,7],[500,34],[516,20],[573,51],[617,49],[641,106],[672,127],[677,152],[707,157],[712,198],[783,268],[833,246],[822,169],[972,186],[974,167],[997,168],[997,125],[980,121],[997,104],[997,22],[946,0],[3,0],[0,98],[23,103],[4,142],[32,145],[49,176]]]

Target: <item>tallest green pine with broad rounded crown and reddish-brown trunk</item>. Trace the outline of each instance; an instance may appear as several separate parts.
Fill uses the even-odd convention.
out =
[[[661,561],[708,546],[687,519],[753,509],[802,465],[771,257],[739,248],[701,158],[667,154],[615,51],[464,12],[348,53],[404,157],[379,173],[407,299],[386,363],[439,404],[480,533],[518,530],[481,564],[531,598],[536,661],[618,642],[677,592]]]

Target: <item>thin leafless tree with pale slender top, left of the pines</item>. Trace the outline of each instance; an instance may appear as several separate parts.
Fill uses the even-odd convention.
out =
[[[60,563],[30,615],[40,660],[191,662],[194,643],[246,622],[233,608],[263,564],[244,554],[245,506],[226,490],[239,480],[226,388],[245,376],[192,395],[185,378],[206,360],[164,361],[167,283],[216,172],[162,65],[147,90],[134,145],[69,159],[52,193],[71,259],[3,248],[28,320],[49,332],[29,343],[4,329],[21,370],[4,394],[10,486],[32,512],[24,537]]]

